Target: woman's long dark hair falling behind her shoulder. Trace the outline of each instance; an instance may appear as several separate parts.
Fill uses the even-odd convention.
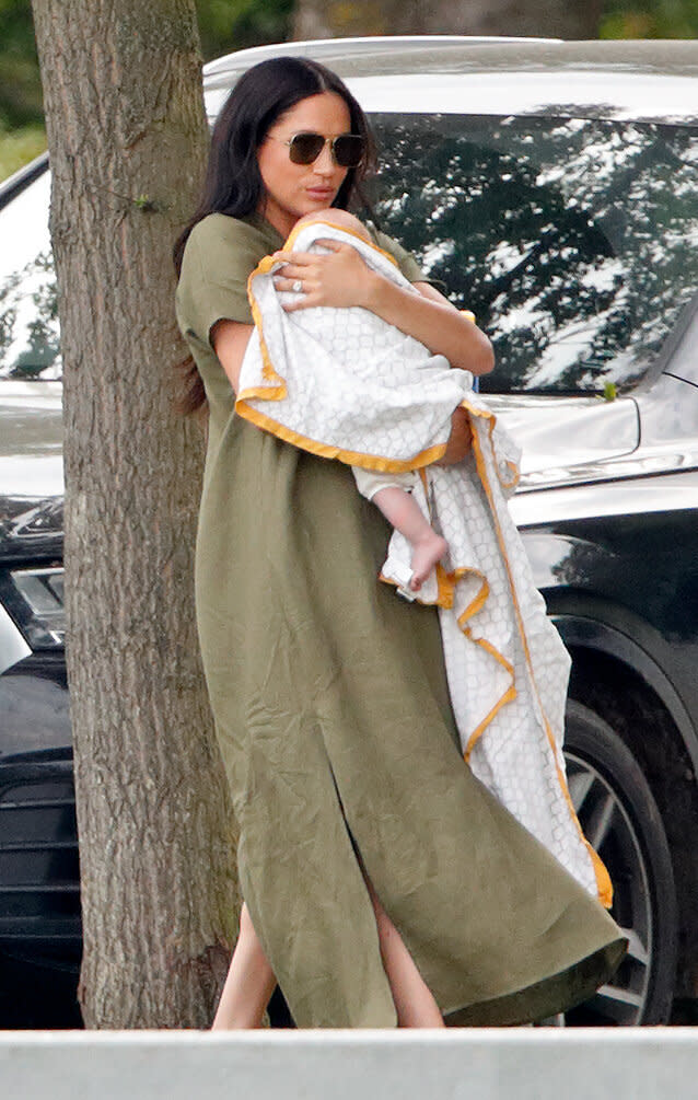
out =
[[[346,210],[361,205],[370,210],[362,190],[366,174],[375,167],[375,145],[366,117],[336,74],[308,57],[272,57],[240,78],[218,117],[201,198],[191,221],[173,250],[177,275],[189,234],[210,213],[244,218],[264,204],[264,184],[257,166],[257,148],[274,123],[291,107],[310,96],[333,91],[346,103],[352,133],[361,134],[366,154],[357,168],[350,168],[333,206]],[[182,364],[185,395],[182,413],[193,413],[206,403],[203,383],[193,360]]]

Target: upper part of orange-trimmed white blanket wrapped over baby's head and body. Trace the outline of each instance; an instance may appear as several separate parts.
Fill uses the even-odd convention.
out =
[[[322,251],[318,238],[352,243],[399,286],[419,292],[378,248],[328,224],[295,230],[287,249]],[[440,458],[453,409],[472,393],[472,375],[387,326],[366,309],[286,314],[298,298],[278,293],[266,257],[250,277],[256,332],[240,375],[237,413],[325,458],[367,470],[414,470]],[[388,339],[387,339],[388,338]],[[396,415],[397,414],[397,415]]]

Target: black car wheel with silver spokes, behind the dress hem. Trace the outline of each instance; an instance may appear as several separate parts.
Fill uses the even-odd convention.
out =
[[[567,704],[565,759],[579,823],[613,883],[611,916],[630,947],[613,978],[585,1004],[566,1013],[564,1023],[665,1023],[676,971],[677,905],[656,802],[619,735],[574,700]]]

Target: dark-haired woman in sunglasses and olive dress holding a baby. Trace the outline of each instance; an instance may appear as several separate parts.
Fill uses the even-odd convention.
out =
[[[233,413],[246,280],[268,253],[306,307],[363,306],[453,366],[491,370],[484,333],[381,234],[419,297],[348,245],[282,251],[300,217],[346,208],[369,162],[336,76],[264,62],[223,108],[176,248],[209,406],[197,616],[245,899],[214,1027],[257,1025],[275,976],[299,1026],[522,1023],[588,997],[625,946],[463,763],[435,612],[376,583],[389,528],[351,471]],[[444,461],[467,444],[456,414]]]

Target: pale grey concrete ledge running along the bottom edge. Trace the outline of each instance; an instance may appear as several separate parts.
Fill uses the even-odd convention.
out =
[[[31,1100],[683,1100],[698,1028],[0,1032]]]

